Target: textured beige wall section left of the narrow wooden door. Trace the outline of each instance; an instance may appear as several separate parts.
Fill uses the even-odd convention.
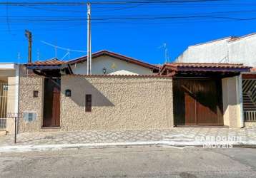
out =
[[[33,91],[39,91],[39,97],[33,98]],[[40,76],[21,76],[19,80],[19,112],[36,112],[36,120],[26,122],[19,119],[19,132],[38,132],[41,130],[43,113],[44,78]]]

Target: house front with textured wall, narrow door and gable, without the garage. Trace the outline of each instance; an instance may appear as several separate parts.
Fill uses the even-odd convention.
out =
[[[24,118],[19,132],[173,127],[172,78],[158,75],[154,65],[117,53],[92,56],[92,75],[84,75],[84,57],[23,66],[19,112]]]

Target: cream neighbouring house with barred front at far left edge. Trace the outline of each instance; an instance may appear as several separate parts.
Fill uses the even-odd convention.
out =
[[[14,118],[18,112],[19,65],[0,63],[0,130],[14,133]]]

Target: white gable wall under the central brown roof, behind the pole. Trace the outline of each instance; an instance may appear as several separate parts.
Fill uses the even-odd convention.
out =
[[[152,70],[149,68],[144,68],[133,63],[127,63],[109,56],[99,56],[98,58],[92,59],[92,74],[103,74],[102,68],[107,68],[107,74],[113,73],[114,70],[111,67],[113,63],[117,67],[115,68],[115,71],[119,71],[118,74],[126,74],[125,71],[140,75],[153,74]],[[87,61],[84,63],[77,63],[76,67],[75,65],[72,65],[72,70],[74,74],[87,74]]]

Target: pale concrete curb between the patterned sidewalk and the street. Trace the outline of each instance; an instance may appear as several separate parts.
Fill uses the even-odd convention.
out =
[[[232,147],[256,147],[256,142],[207,142],[213,145],[212,148],[222,148],[222,145],[232,145]],[[89,144],[61,144],[61,145],[14,145],[0,147],[0,152],[32,152],[32,151],[51,151],[64,149],[81,148],[114,148],[114,147],[175,147],[183,149],[185,147],[202,147],[203,142],[112,142],[112,143],[89,143]],[[227,147],[223,147],[227,148]]]

